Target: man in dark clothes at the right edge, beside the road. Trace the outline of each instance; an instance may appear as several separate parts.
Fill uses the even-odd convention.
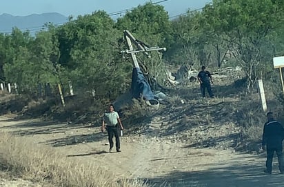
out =
[[[284,135],[284,128],[282,124],[278,121],[274,120],[273,113],[267,112],[267,122],[264,124],[263,127],[263,141],[262,141],[262,149],[267,152],[267,159],[266,159],[266,169],[264,170],[265,173],[271,174],[272,173],[272,159],[274,155],[274,151],[278,157],[278,167],[280,172],[284,173],[284,165],[283,165],[283,148],[282,148],[282,141]]]

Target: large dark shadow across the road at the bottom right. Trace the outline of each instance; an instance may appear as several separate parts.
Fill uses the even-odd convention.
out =
[[[190,163],[189,163],[190,164]],[[272,175],[263,173],[263,166],[237,164],[233,166],[216,166],[209,170],[181,172],[172,171],[168,175],[143,179],[150,186],[204,186],[204,187],[252,187],[284,186],[283,177],[274,166]]]

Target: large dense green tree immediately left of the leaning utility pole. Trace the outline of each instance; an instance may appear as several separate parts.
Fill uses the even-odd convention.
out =
[[[123,91],[121,83],[130,72],[117,56],[122,33],[114,26],[108,14],[98,11],[59,28],[59,63],[78,90],[94,89],[97,95]]]

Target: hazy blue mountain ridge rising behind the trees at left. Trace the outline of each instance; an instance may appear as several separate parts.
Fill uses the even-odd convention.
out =
[[[0,33],[10,34],[12,28],[17,27],[22,32],[30,30],[30,34],[40,31],[45,23],[61,25],[68,22],[68,17],[52,12],[43,14],[30,14],[28,16],[12,16],[11,14],[0,15]]]

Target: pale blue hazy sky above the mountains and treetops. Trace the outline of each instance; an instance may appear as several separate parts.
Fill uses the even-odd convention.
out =
[[[152,3],[163,0],[152,0]],[[96,10],[105,10],[109,14],[143,5],[145,0],[1,0],[0,14],[27,16],[45,12],[58,12],[66,17],[72,15],[91,14]],[[165,0],[159,5],[164,6],[170,17],[182,14],[190,8],[203,8],[212,0]]]

